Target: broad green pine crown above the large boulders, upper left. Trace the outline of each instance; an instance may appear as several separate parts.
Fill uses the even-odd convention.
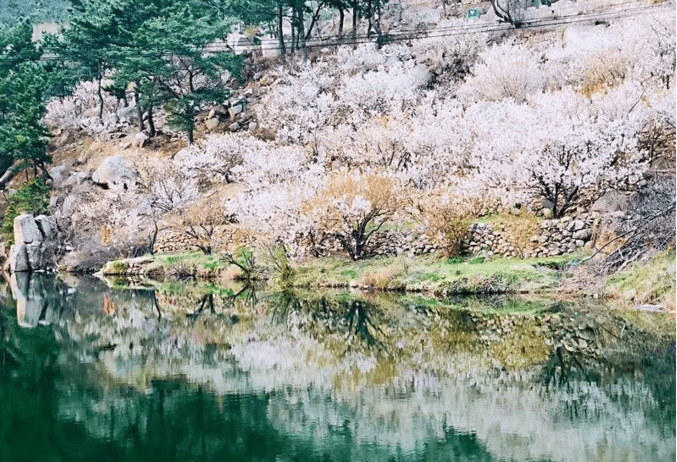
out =
[[[223,102],[225,71],[237,75],[242,66],[240,56],[212,46],[229,31],[199,0],[90,0],[75,9],[59,55],[100,88],[112,70],[113,85],[101,90],[120,93],[134,83],[142,110],[164,106],[170,126],[192,142],[201,105]]]

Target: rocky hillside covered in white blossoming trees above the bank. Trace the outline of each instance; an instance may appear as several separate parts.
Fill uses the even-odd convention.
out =
[[[585,246],[604,248],[613,272],[674,252],[674,5],[643,8],[311,49],[284,63],[248,52],[240,77],[227,80],[234,92],[200,106],[192,144],[162,107],[156,133],[149,114],[139,131],[129,88],[126,106],[104,93],[99,118],[98,84],[82,82],[45,117],[61,261],[91,270],[149,245],[284,246],[300,260]],[[496,228],[500,252],[462,232],[497,216],[518,217]],[[543,233],[530,240],[562,217],[591,231],[554,247]],[[393,233],[402,243],[387,247]]]

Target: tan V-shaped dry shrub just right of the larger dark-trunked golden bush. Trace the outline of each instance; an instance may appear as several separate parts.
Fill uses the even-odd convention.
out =
[[[418,218],[428,237],[437,242],[447,258],[457,255],[470,225],[482,210],[480,201],[454,194],[435,194],[417,202]]]

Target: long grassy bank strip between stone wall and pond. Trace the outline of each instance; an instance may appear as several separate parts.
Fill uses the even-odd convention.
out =
[[[384,292],[421,292],[435,296],[539,293],[556,290],[580,255],[543,259],[455,257],[439,254],[375,257],[353,261],[323,257],[290,261],[283,254],[261,254],[251,272],[219,255],[200,252],[159,254],[142,260],[110,262],[107,275],[152,279],[215,279],[222,283],[251,278],[279,288],[359,288]],[[241,266],[247,263],[234,256]],[[140,263],[139,263],[140,262]]]

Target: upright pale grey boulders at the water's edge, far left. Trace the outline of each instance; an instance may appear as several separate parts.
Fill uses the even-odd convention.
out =
[[[57,227],[53,217],[31,214],[14,219],[14,245],[9,251],[12,273],[55,271]]]

